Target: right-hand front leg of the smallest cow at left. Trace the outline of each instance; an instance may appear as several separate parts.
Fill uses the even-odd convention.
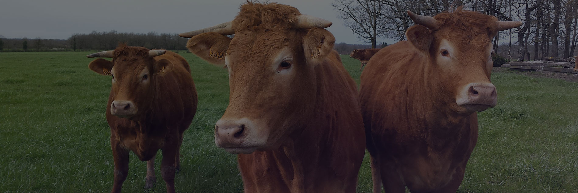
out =
[[[166,192],[175,192],[176,143],[169,143],[162,149],[161,176],[165,180]]]

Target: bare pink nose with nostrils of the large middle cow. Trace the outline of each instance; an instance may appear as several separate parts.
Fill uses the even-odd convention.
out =
[[[246,138],[247,123],[244,120],[218,120],[215,126],[217,147],[240,147]]]

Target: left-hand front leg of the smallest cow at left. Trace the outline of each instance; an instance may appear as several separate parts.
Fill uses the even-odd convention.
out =
[[[120,142],[110,140],[114,160],[114,183],[111,192],[120,192],[124,180],[128,176],[128,150],[120,146]]]

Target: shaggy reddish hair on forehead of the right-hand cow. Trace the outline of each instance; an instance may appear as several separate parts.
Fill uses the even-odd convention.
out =
[[[433,18],[440,28],[438,37],[454,42],[462,51],[486,50],[496,34],[495,21],[498,20],[494,16],[464,10],[461,6],[454,12],[440,13]]]

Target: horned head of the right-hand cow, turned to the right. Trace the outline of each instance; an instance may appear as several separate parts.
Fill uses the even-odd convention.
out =
[[[494,16],[461,7],[435,17],[407,14],[417,24],[407,29],[407,40],[428,56],[426,69],[439,81],[433,89],[450,100],[450,108],[469,114],[495,107],[497,91],[490,82],[491,39],[498,31],[522,23],[497,21]]]

